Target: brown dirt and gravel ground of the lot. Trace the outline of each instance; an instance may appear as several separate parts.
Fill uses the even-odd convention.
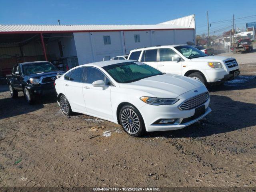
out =
[[[0,186],[256,186],[256,53],[230,55],[251,59],[209,88],[206,118],[143,138],[1,89]]]

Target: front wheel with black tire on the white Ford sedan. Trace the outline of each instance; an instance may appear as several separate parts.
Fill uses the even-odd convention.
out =
[[[145,126],[140,112],[131,105],[123,106],[119,112],[119,121],[124,131],[134,137],[144,134]]]

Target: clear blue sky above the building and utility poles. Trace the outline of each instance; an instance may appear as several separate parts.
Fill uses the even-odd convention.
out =
[[[196,15],[196,33],[222,34],[256,22],[256,0],[0,0],[0,24],[157,24]],[[248,17],[250,16],[250,17]],[[244,18],[246,17],[246,18]],[[224,22],[219,22],[228,20]]]

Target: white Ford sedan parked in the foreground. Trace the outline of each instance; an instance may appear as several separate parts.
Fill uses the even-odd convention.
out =
[[[184,128],[211,112],[200,81],[134,60],[80,65],[56,79],[58,104],[66,115],[79,112],[121,124],[131,136]]]

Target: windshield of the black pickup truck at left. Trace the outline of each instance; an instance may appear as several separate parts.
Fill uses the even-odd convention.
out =
[[[22,67],[25,75],[29,75],[33,73],[36,74],[41,72],[58,71],[58,69],[50,62],[29,63],[29,64],[24,64]]]

